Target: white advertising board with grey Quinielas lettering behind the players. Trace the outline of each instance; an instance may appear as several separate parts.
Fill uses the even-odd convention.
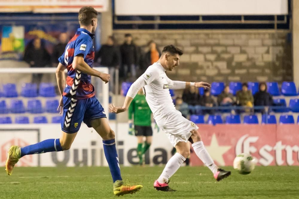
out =
[[[115,123],[111,122],[110,126],[115,130]],[[137,156],[137,138],[134,135],[129,135],[129,126],[127,123],[119,123],[118,136],[116,136],[117,149],[120,165],[132,166],[137,165],[139,158]],[[168,138],[164,132],[153,128],[153,142],[149,148],[149,151],[145,154],[145,163],[151,166],[166,164],[171,155],[173,146],[168,141]],[[14,129],[22,129],[22,132]],[[34,144],[37,142],[35,136],[29,136],[23,134],[27,132],[27,129],[38,129],[39,140],[60,138],[61,127],[57,124],[13,124],[13,125],[1,125],[0,129],[0,154],[1,165],[5,164],[7,158],[7,150],[10,145],[17,144],[19,146],[26,146],[28,144]],[[10,134],[8,132],[11,132]],[[11,141],[13,140],[13,141]],[[9,142],[10,141],[10,142]],[[17,142],[18,141],[18,142]],[[103,143],[101,137],[97,132],[88,128],[85,124],[81,125],[81,128],[71,146],[71,149],[62,152],[50,152],[39,155],[28,155],[31,158],[40,158],[40,166],[108,166],[106,161]],[[22,158],[23,159],[23,158]],[[22,160],[21,159],[21,160]],[[31,162],[34,162],[33,160]],[[17,166],[38,166],[35,164],[19,164]]]

